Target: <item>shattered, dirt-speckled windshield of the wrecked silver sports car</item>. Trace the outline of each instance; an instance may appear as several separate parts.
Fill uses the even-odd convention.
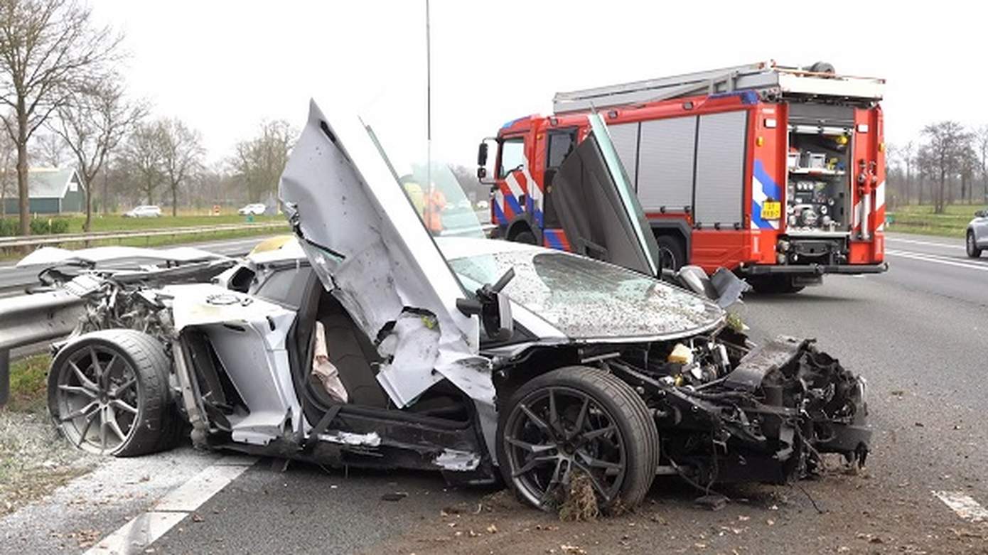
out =
[[[623,268],[538,249],[456,258],[467,288],[515,269],[505,291],[573,339],[640,338],[698,333],[722,312],[699,296]]]

